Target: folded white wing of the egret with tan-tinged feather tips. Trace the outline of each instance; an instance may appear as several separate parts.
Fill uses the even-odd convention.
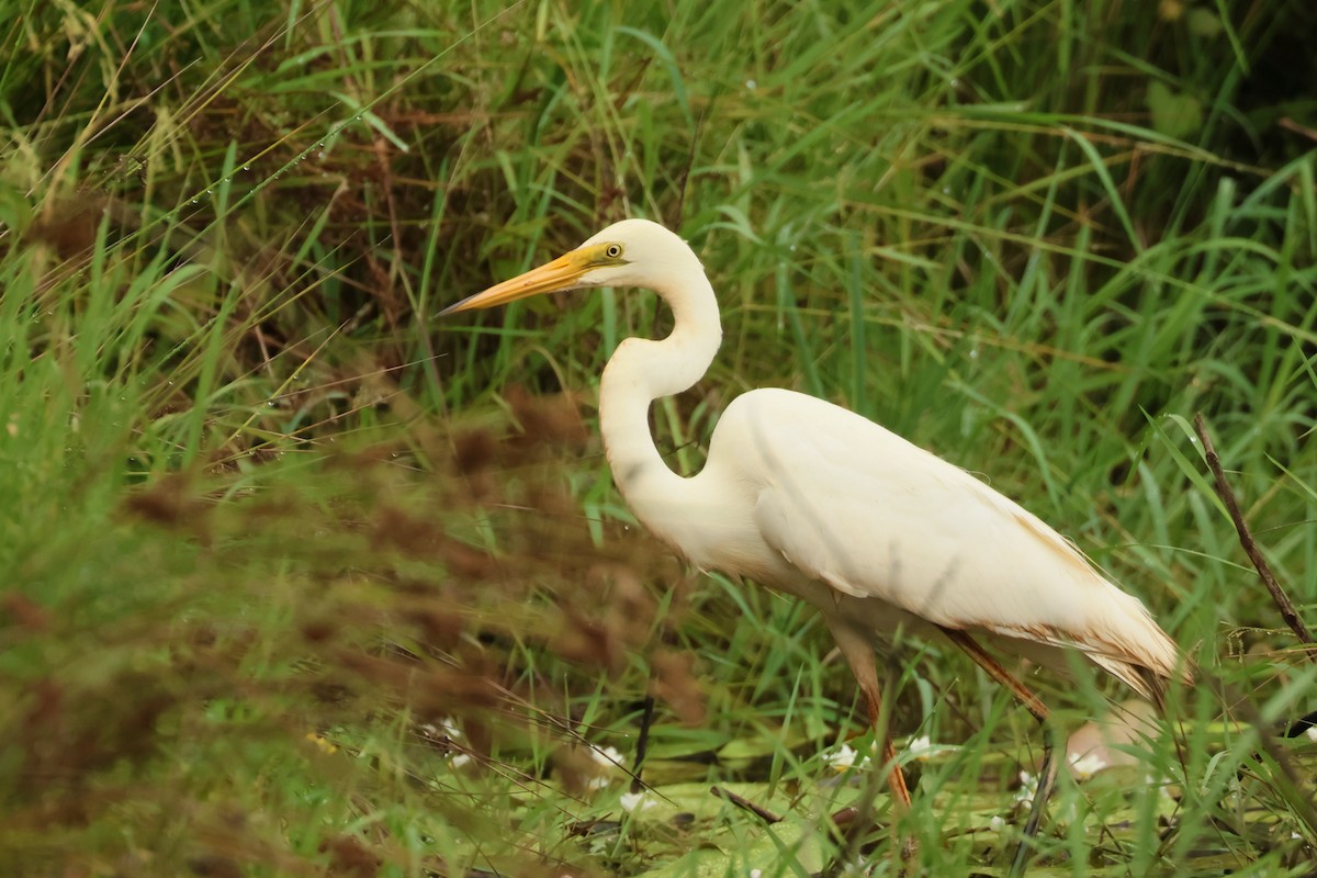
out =
[[[807,577],[946,628],[1077,646],[1171,673],[1175,646],[1138,599],[964,470],[790,391],[747,394],[723,421],[718,432],[731,429],[724,442],[715,434],[710,458],[738,459],[759,487],[764,541]]]

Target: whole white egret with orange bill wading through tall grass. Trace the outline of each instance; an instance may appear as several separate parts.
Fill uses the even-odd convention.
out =
[[[749,577],[811,603],[855,673],[876,731],[874,638],[902,627],[947,634],[1039,721],[1047,708],[976,637],[1060,669],[1062,650],[1079,650],[1144,698],[1172,677],[1189,679],[1175,642],[1143,604],[1052,528],[839,405],[789,390],[743,394],[723,412],[705,469],[673,473],[649,434],[649,404],[703,376],[722,324],[699,258],[661,225],[610,225],[443,313],[579,287],[645,287],[676,319],[661,341],[618,345],[599,382],[608,466],[632,512],[695,567]],[[909,807],[890,736],[884,758],[893,796]],[[1026,836],[1036,831],[1046,792],[1035,798]]]

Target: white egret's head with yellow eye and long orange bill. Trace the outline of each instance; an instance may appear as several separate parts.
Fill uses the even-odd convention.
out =
[[[698,269],[699,261],[691,249],[668,229],[649,220],[623,220],[553,262],[449,305],[440,316],[493,308],[541,292],[581,287],[644,287],[665,270],[689,262]]]

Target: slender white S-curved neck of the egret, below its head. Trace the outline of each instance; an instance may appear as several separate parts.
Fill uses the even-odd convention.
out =
[[[662,529],[662,500],[670,502],[685,479],[668,469],[655,446],[649,403],[699,380],[723,340],[714,288],[695,254],[689,257],[653,286],[673,311],[672,334],[660,341],[627,338],[599,380],[599,432],[612,479],[636,517],[653,529]]]

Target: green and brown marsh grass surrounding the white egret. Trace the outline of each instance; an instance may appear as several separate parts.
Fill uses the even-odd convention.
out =
[[[827,632],[684,570],[607,474],[599,370],[670,317],[605,291],[433,319],[639,215],[723,305],[709,376],[655,409],[674,467],[743,390],[849,405],[1071,536],[1229,686],[1063,781],[1039,874],[1305,874],[1312,744],[1262,745],[1314,671],[1191,426],[1312,620],[1313,21],[1275,5],[9,4],[0,870],[835,856],[823,817],[873,779],[822,756],[863,728]],[[996,874],[1039,732],[942,644],[885,667],[897,732],[959,746],[911,766],[926,870]],[[1125,696],[1033,679],[1067,729]],[[630,767],[647,694],[628,813],[589,748]]]

